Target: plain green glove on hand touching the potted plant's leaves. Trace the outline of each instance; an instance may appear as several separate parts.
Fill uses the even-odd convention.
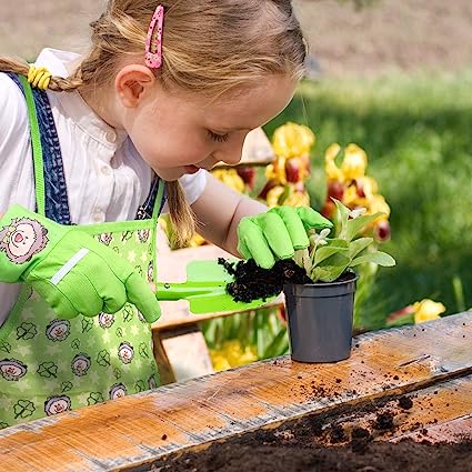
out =
[[[238,225],[238,251],[270,269],[277,259],[290,259],[309,247],[308,231],[332,228],[333,223],[310,207],[277,207],[265,213],[244,217]]]

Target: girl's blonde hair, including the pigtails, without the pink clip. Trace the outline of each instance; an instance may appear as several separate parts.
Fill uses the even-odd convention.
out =
[[[165,9],[162,56],[155,71],[164,87],[218,97],[268,74],[304,73],[305,42],[290,0],[110,0],[90,27],[91,49],[69,78],[52,77],[49,90],[96,89],[114,77],[123,57],[144,56],[145,34],[158,4]],[[143,60],[143,59],[142,59]],[[29,66],[0,58],[0,70],[28,76]],[[178,243],[194,232],[184,192],[167,182]]]

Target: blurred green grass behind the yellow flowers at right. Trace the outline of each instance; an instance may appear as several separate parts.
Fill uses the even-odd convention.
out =
[[[448,314],[472,307],[472,70],[304,82],[265,127],[269,137],[287,121],[317,134],[315,208],[325,192],[324,150],[334,141],[368,152],[368,173],[391,205],[392,240],[383,248],[398,265],[378,272],[363,304],[368,327],[423,298],[443,302]]]

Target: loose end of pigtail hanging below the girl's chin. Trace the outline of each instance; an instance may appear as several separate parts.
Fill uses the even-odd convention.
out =
[[[182,185],[178,180],[165,182],[168,198],[169,217],[175,229],[171,245],[173,248],[184,248],[195,232],[195,220],[190,208]]]

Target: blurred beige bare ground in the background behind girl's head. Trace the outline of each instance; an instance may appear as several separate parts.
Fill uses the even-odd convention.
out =
[[[80,51],[104,0],[1,0],[0,53],[33,59],[41,48]],[[294,0],[324,76],[472,66],[470,0]]]

